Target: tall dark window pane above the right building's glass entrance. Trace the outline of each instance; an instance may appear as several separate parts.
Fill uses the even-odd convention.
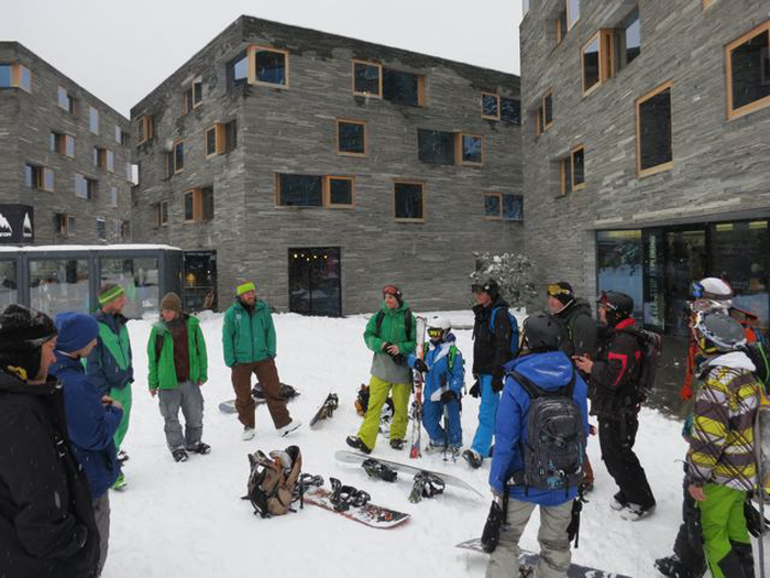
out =
[[[669,88],[639,105],[639,154],[642,171],[671,162],[671,89]]]

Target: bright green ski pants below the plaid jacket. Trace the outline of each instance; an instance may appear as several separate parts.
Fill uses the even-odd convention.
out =
[[[706,483],[703,492],[706,499],[698,502],[697,508],[703,525],[703,549],[712,576],[754,578],[751,541],[744,516],[746,492],[716,483]]]

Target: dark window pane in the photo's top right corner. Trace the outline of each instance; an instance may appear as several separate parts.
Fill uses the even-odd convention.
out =
[[[770,44],[762,31],[730,53],[733,109],[770,96]]]

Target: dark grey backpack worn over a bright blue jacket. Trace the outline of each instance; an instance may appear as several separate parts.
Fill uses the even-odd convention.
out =
[[[514,482],[537,490],[578,488],[583,481],[585,429],[580,407],[572,399],[576,372],[558,391],[544,391],[516,371],[509,373],[527,392],[527,441],[522,443],[524,476]]]

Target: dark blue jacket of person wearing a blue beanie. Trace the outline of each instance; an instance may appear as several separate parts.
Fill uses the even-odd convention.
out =
[[[123,412],[101,403],[101,392],[79,360],[56,351],[50,372],[64,385],[69,447],[86,472],[91,498],[96,500],[114,483],[120,471],[112,436]]]

